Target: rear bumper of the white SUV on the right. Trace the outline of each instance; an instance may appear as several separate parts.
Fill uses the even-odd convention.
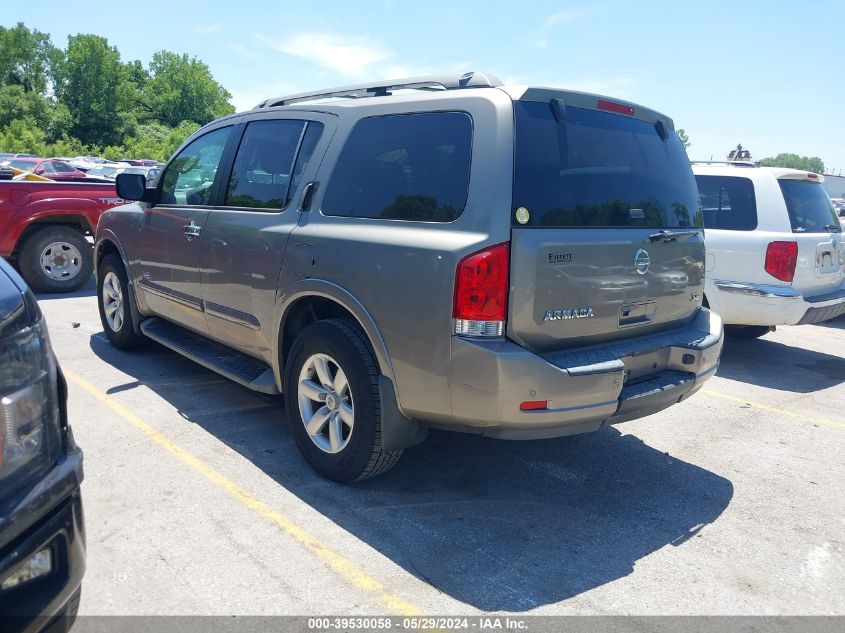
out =
[[[804,325],[845,314],[845,286],[810,296],[791,286],[725,280],[713,285],[718,293],[713,307],[718,305],[728,325]]]

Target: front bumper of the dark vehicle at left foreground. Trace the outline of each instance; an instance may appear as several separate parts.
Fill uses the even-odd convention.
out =
[[[82,452],[74,450],[39,484],[43,496],[13,512],[11,524],[39,515],[39,504],[51,507],[46,515],[23,528],[0,550],[0,583],[44,549],[51,550],[52,571],[7,591],[0,590],[0,630],[9,633],[42,630],[66,631],[79,608],[85,573],[85,524],[79,482]],[[72,492],[56,499],[51,493],[73,483]],[[42,506],[43,508],[43,506]]]

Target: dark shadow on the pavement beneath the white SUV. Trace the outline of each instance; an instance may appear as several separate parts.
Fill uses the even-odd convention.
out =
[[[825,354],[765,337],[728,336],[716,375],[769,389],[812,393],[845,382],[845,358],[841,353]]]

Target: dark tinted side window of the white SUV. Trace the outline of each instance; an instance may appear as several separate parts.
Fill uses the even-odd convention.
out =
[[[753,231],[757,228],[754,184],[736,176],[696,176],[704,228]]]

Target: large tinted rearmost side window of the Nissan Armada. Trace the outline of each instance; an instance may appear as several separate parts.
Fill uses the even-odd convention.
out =
[[[472,158],[464,112],[371,117],[341,150],[324,215],[451,222],[463,213]]]

